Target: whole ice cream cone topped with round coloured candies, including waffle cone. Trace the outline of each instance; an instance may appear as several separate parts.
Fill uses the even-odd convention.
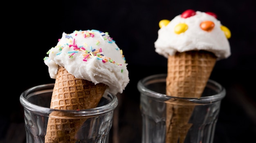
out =
[[[229,29],[212,12],[192,9],[159,22],[155,51],[168,58],[166,95],[200,98],[217,60],[230,56]],[[171,100],[171,99],[170,99]],[[166,104],[166,143],[184,143],[194,106]]]

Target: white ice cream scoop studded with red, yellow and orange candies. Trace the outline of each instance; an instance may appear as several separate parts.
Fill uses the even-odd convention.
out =
[[[155,51],[166,58],[191,50],[213,52],[217,60],[231,54],[228,41],[231,33],[217,20],[215,13],[189,9],[171,21],[160,21],[159,26]]]

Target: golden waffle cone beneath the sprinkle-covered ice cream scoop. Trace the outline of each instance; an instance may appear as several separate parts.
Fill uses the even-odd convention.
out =
[[[82,110],[97,107],[106,85],[75,78],[64,67],[59,67],[50,108]],[[45,143],[75,143],[76,132],[86,119],[78,119],[54,111],[49,115]]]

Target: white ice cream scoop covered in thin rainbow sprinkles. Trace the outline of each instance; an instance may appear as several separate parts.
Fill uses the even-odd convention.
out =
[[[108,85],[110,93],[122,93],[129,82],[127,63],[122,50],[99,30],[63,32],[57,45],[44,58],[49,75],[56,79],[58,67],[64,67],[75,78]]]

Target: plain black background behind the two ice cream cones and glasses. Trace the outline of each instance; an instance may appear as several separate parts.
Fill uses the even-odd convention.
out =
[[[19,96],[53,83],[43,62],[62,32],[109,32],[128,63],[130,83],[119,102],[119,138],[140,143],[137,82],[166,73],[167,59],[155,52],[158,22],[186,9],[211,11],[231,31],[231,56],[217,61],[211,74],[227,89],[216,127],[216,143],[243,143],[256,135],[256,1],[254,0],[63,0],[12,2],[2,11],[2,104],[0,141],[9,126],[23,122]],[[132,105],[132,106],[131,106]],[[9,137],[9,136],[8,136]],[[1,142],[0,142],[1,143]],[[8,141],[7,141],[8,143]]]

